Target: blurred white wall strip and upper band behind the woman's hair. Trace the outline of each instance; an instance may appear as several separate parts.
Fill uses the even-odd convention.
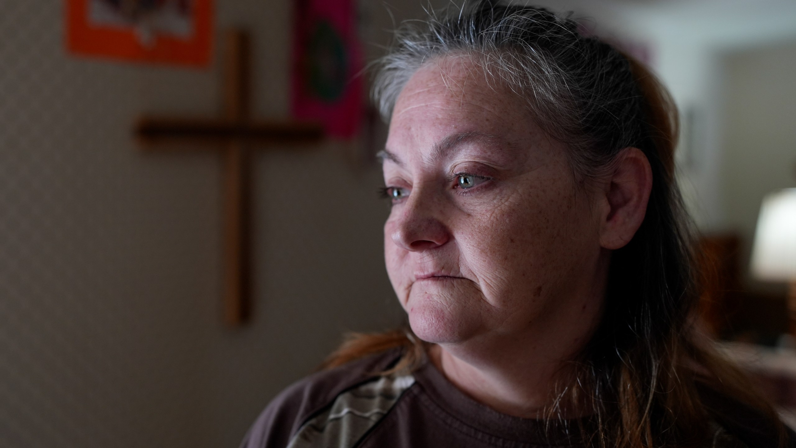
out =
[[[696,119],[691,131],[697,135],[686,143],[690,160],[680,167],[686,203],[697,226],[708,233],[736,230],[728,218],[721,171],[725,132],[731,126],[725,117],[729,108],[722,58],[736,49],[796,39],[796,4],[781,0],[658,2],[630,10],[626,33],[654,45],[657,73],[681,112],[690,110]]]

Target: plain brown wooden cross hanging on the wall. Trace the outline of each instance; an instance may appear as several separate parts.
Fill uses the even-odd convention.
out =
[[[220,119],[143,116],[135,133],[147,148],[157,143],[211,143],[223,149],[224,200],[224,320],[236,326],[251,314],[249,253],[250,175],[252,143],[283,146],[315,143],[322,139],[316,124],[287,121],[254,121],[249,118],[250,40],[248,33],[233,29],[226,36],[224,116]]]

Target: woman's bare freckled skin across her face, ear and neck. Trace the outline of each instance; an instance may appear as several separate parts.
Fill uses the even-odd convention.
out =
[[[638,229],[651,175],[630,148],[615,179],[578,187],[564,144],[491,84],[447,57],[400,93],[384,182],[408,195],[384,224],[384,256],[412,330],[435,343],[431,360],[475,399],[527,417],[599,321],[611,250]],[[461,132],[494,138],[439,156],[435,145]],[[481,182],[458,187],[462,172]]]

